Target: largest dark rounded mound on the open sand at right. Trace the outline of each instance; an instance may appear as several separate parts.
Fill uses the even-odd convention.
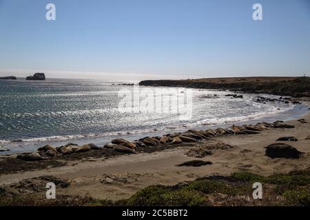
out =
[[[270,144],[265,147],[266,156],[273,158],[293,158],[299,159],[302,152],[298,151],[293,146],[283,143]]]

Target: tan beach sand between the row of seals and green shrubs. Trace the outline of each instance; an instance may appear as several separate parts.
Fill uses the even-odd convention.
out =
[[[308,104],[309,102],[304,102]],[[67,161],[65,166],[43,168],[18,173],[2,174],[0,186],[14,184],[22,179],[52,175],[70,182],[67,188],[56,188],[57,195],[79,195],[96,199],[124,199],[146,186],[174,185],[209,175],[230,175],[237,171],[250,171],[260,175],[288,173],[310,166],[310,113],[298,120],[288,121],[293,129],[268,129],[255,135],[225,135],[214,140],[230,144],[234,148],[214,151],[202,160],[213,162],[210,166],[187,167],[177,164],[197,159],[186,155],[189,148],[203,146],[207,140],[191,144],[180,144],[153,153],[119,155],[103,159],[76,159]],[[304,152],[300,159],[271,159],[265,156],[265,146],[276,142],[278,137],[294,136],[298,142],[283,142]],[[201,159],[201,158],[199,158]],[[45,192],[44,192],[45,196]]]

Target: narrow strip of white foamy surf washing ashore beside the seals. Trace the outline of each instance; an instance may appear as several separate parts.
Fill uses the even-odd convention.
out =
[[[245,94],[245,93],[242,93]],[[257,94],[249,94],[249,95],[257,95]],[[307,98],[302,99],[302,98],[291,98],[290,102],[293,101],[303,101],[307,100]],[[301,107],[301,108],[300,108]],[[37,148],[40,148],[41,146],[44,146],[45,144],[51,144],[51,145],[65,145],[68,142],[76,142],[77,144],[88,144],[88,143],[94,143],[97,145],[104,145],[110,142],[110,140],[114,138],[125,138],[126,140],[136,140],[139,139],[141,136],[156,136],[161,133],[174,133],[174,132],[184,132],[188,129],[214,129],[217,126],[223,126],[223,127],[228,127],[231,126],[232,124],[236,125],[241,125],[244,123],[256,123],[260,121],[266,121],[266,122],[273,122],[275,120],[293,120],[298,117],[301,117],[304,113],[307,113],[309,111],[309,106],[307,104],[294,104],[292,109],[286,110],[286,111],[281,111],[278,113],[272,113],[271,115],[265,115],[262,117],[258,118],[253,118],[249,120],[238,120],[236,122],[225,122],[225,123],[218,123],[218,124],[197,124],[196,126],[171,126],[167,127],[165,129],[154,129],[154,131],[143,131],[141,133],[136,133],[136,132],[124,132],[122,133],[114,131],[116,133],[115,135],[77,135],[81,137],[73,137],[70,138],[70,136],[74,135],[65,135],[63,136],[63,140],[53,140],[54,137],[34,137],[34,139],[38,139],[37,141],[28,141],[28,140],[22,140],[17,138],[16,140],[8,140],[7,142],[2,142],[1,146],[3,148],[8,148],[10,147],[10,151],[0,151],[0,155],[6,155],[6,154],[16,154],[16,153],[29,153],[29,152],[34,152],[37,150]],[[156,130],[156,131],[155,131]],[[61,136],[62,137],[62,136]],[[50,140],[49,140],[50,138]],[[55,136],[56,138],[56,136]],[[42,139],[42,141],[40,140]],[[45,140],[47,139],[47,140]],[[23,146],[22,146],[23,144]],[[12,148],[11,148],[12,147]]]

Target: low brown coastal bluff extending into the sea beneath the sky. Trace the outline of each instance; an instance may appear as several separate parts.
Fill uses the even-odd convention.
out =
[[[310,97],[310,77],[236,77],[187,80],[143,80],[143,86],[228,89],[254,94]]]

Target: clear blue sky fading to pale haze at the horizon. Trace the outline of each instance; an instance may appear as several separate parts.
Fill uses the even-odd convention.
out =
[[[56,20],[45,6],[54,3]],[[254,21],[254,3],[262,21]],[[310,76],[309,0],[0,0],[0,76]]]

